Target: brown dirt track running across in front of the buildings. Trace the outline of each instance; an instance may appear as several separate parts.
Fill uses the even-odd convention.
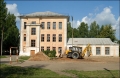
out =
[[[9,58],[1,59],[1,62],[9,64]],[[85,57],[84,59],[70,59],[58,58],[48,61],[25,61],[23,63],[12,63],[14,66],[21,67],[37,67],[50,69],[59,74],[64,74],[62,70],[79,70],[79,71],[93,71],[93,70],[119,70],[120,58],[119,57]],[[75,77],[72,75],[72,77]]]

